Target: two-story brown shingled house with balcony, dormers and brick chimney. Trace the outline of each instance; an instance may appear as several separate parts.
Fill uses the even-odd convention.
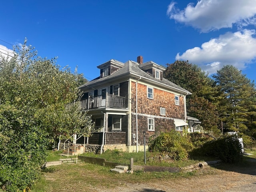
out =
[[[80,86],[82,111],[92,115],[98,132],[88,144],[104,150],[143,150],[146,140],[186,125],[188,90],[163,78],[164,67],[149,61],[110,60],[98,66],[100,76]]]

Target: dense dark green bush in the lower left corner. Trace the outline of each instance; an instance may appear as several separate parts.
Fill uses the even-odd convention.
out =
[[[0,186],[7,192],[28,190],[46,158],[46,131],[40,122],[22,118],[30,112],[0,105]]]

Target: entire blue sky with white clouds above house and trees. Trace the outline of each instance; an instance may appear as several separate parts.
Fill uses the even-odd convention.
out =
[[[0,0],[0,54],[24,38],[92,80],[115,59],[166,66],[188,60],[213,74],[226,64],[256,80],[255,0]],[[4,55],[4,54],[2,54]]]

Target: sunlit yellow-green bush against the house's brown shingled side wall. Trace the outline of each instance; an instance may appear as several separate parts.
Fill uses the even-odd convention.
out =
[[[193,145],[187,136],[182,136],[180,132],[171,130],[163,132],[155,139],[150,139],[149,150],[167,154],[173,160],[183,160],[188,157],[188,151]]]

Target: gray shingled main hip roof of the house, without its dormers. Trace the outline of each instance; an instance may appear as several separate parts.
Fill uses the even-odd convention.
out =
[[[141,77],[142,79],[150,80],[152,82],[158,83],[158,84],[163,85],[163,86],[173,88],[175,90],[180,90],[181,92],[185,92],[187,94],[191,94],[188,90],[174,84],[173,82],[170,82],[169,80],[167,80],[165,78],[163,78],[163,80],[158,80],[158,79],[152,77],[150,74],[148,74],[147,72],[144,72],[142,69],[140,69],[139,65],[140,64],[138,64],[137,62],[129,60],[126,63],[124,63],[124,66],[122,68],[120,68],[119,70],[117,70],[116,72],[111,74],[110,76],[106,76],[106,77],[103,77],[103,78],[98,77],[98,78],[80,86],[79,88],[82,89],[82,88],[88,87],[92,84],[98,84],[100,82],[104,82],[104,81],[107,81],[107,80],[111,80],[111,79],[114,79],[114,78],[117,78],[117,77],[121,77],[121,76],[125,76],[125,75],[130,74],[130,75]]]

